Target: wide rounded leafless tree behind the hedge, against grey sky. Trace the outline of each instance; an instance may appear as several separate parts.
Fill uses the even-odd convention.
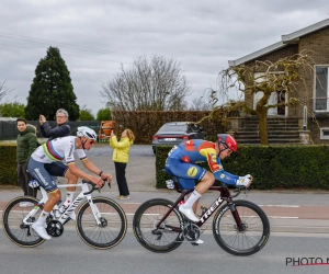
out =
[[[161,56],[150,60],[140,57],[131,69],[121,72],[102,87],[113,111],[180,111],[186,107],[184,98],[190,85],[180,65]]]

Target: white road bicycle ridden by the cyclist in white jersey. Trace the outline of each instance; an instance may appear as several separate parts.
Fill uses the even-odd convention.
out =
[[[91,185],[91,190],[89,190]],[[57,187],[72,186],[71,184],[57,185]],[[46,231],[56,238],[63,235],[64,225],[71,218],[71,214],[79,207],[76,229],[80,238],[95,249],[110,249],[118,244],[127,231],[127,218],[122,207],[111,198],[103,196],[92,197],[91,193],[100,189],[92,182],[82,180],[75,186],[81,187],[81,193],[65,209],[59,213],[55,205],[46,220]],[[109,182],[111,187],[111,183]],[[42,244],[45,239],[41,238],[31,226],[36,221],[48,199],[47,193],[41,189],[42,199],[20,196],[8,203],[2,214],[2,226],[11,241],[23,248],[34,248]],[[31,206],[22,207],[21,203],[30,202]],[[69,224],[72,224],[69,222]]]

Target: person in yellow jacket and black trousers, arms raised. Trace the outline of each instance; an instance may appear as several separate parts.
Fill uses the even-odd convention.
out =
[[[110,137],[110,146],[114,149],[112,160],[115,165],[115,175],[118,186],[118,199],[127,199],[129,197],[129,190],[126,180],[126,167],[129,161],[131,146],[135,140],[135,136],[131,129],[125,129],[121,134],[120,140],[112,132]]]

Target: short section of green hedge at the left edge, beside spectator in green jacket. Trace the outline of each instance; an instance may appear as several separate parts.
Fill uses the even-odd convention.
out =
[[[0,142],[0,184],[18,185],[16,144]]]

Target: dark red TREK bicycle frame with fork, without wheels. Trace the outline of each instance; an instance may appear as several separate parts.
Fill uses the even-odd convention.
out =
[[[161,220],[157,224],[157,229],[159,229],[161,227],[161,224],[166,220],[166,218],[170,215],[170,213],[172,210],[174,210],[177,214],[179,214],[180,216],[180,213],[179,210],[177,209],[178,205],[184,201],[184,197],[194,191],[194,189],[191,189],[191,190],[186,190],[186,191],[181,191],[179,189],[179,185],[178,183],[174,181],[174,184],[175,184],[175,190],[177,192],[179,193],[182,193],[181,196],[175,201],[175,203],[173,204],[173,206],[167,212],[167,214],[161,218]],[[208,189],[209,191],[219,191],[220,194],[218,196],[218,198],[215,199],[215,202],[212,204],[212,206],[201,216],[198,222],[196,222],[196,226],[197,227],[202,227],[203,224],[206,222],[206,220],[216,212],[216,209],[226,201],[231,213],[232,213],[232,216],[236,220],[236,224],[237,224],[237,227],[240,231],[242,231],[243,227],[242,227],[242,224],[241,224],[241,219],[240,219],[240,216],[238,214],[238,212],[236,210],[235,208],[235,205],[232,203],[232,197],[230,196],[230,193],[229,193],[229,190],[227,189],[227,186],[211,186]],[[172,226],[168,226],[167,227],[171,230],[171,231],[174,231],[174,232],[182,232],[182,229],[183,227],[181,228],[178,228],[178,227],[172,227]]]

